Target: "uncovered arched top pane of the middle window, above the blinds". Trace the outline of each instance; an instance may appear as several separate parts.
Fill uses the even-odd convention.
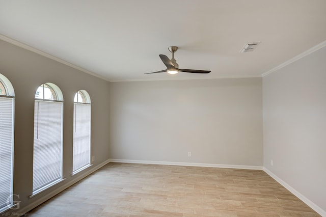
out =
[[[60,88],[52,83],[42,84],[35,93],[35,99],[63,101],[63,95]]]

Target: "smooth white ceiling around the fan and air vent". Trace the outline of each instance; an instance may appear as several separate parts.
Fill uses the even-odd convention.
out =
[[[326,1],[1,0],[0,34],[110,81],[257,77],[326,40]],[[211,73],[144,74],[172,45]]]

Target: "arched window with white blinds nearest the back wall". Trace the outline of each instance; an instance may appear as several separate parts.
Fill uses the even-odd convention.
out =
[[[79,90],[73,104],[72,174],[91,164],[91,99],[87,91]]]

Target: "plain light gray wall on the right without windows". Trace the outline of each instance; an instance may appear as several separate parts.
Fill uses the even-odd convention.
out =
[[[326,47],[263,77],[264,167],[323,210],[325,57]]]

